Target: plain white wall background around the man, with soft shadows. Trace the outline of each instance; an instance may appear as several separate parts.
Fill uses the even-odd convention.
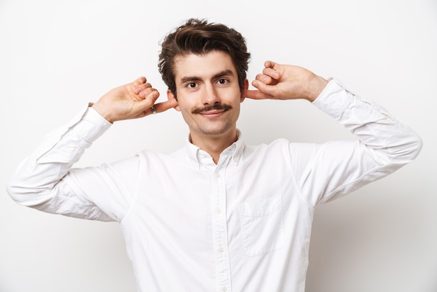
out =
[[[0,184],[46,133],[112,87],[145,75],[164,98],[158,43],[188,17],[246,36],[249,80],[266,59],[334,76],[424,140],[413,163],[318,207],[306,291],[436,292],[435,0],[0,0]],[[251,145],[351,138],[304,101],[246,99],[238,127]],[[175,110],[117,122],[77,166],[170,152],[187,133]],[[135,291],[119,226],[21,207],[2,187],[0,291]]]

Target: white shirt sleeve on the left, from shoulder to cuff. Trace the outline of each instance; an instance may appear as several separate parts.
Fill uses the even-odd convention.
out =
[[[114,166],[72,168],[111,123],[89,106],[47,135],[8,183],[11,198],[44,212],[100,221],[119,220],[128,209],[126,189]],[[132,163],[133,161],[129,161]],[[96,194],[89,198],[88,194]],[[118,209],[114,206],[120,206]]]

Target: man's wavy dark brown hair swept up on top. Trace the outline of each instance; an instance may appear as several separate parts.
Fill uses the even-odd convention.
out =
[[[165,36],[161,43],[158,68],[168,89],[176,96],[175,58],[187,54],[225,52],[232,59],[238,74],[239,87],[243,88],[251,54],[246,40],[238,31],[225,26],[191,18]]]

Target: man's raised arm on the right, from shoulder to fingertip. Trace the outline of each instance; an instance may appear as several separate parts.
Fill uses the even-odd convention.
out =
[[[350,193],[413,161],[421,138],[380,105],[349,92],[337,80],[298,66],[265,62],[243,96],[253,99],[305,98],[358,140],[323,144],[289,143],[297,187],[311,205]]]

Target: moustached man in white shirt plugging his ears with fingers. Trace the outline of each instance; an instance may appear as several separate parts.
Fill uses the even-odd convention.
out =
[[[112,89],[52,133],[8,184],[45,212],[119,221],[138,291],[304,291],[316,205],[415,159],[408,126],[336,80],[266,61],[249,90],[250,54],[234,29],[188,20],[163,41],[168,101],[146,78]],[[244,98],[305,98],[357,136],[316,145],[244,145]],[[112,122],[170,108],[188,125],[185,147],[72,168]]]

